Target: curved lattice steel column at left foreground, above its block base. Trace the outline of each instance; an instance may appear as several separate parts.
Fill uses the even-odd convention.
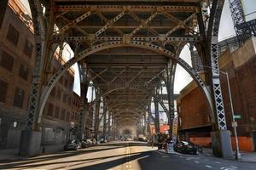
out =
[[[35,66],[32,74],[32,89],[29,98],[27,129],[38,129],[38,110],[40,108],[40,94],[42,91],[44,53],[46,51],[46,28],[44,23],[43,11],[40,8],[39,1],[29,0],[29,5],[32,11],[32,21],[35,36]],[[53,21],[53,20],[51,20]]]

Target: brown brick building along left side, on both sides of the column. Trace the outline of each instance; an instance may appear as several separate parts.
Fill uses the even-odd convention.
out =
[[[26,127],[34,65],[34,36],[27,14],[20,1],[10,0],[0,31],[0,149],[19,147]],[[55,58],[52,72],[64,62]],[[67,71],[47,100],[41,144],[62,144],[69,137],[70,122],[74,121],[73,76],[73,70]]]

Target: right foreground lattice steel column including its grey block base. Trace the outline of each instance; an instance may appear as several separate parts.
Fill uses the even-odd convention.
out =
[[[218,122],[218,130],[212,132],[212,151],[214,156],[223,156],[225,158],[232,157],[232,146],[230,139],[230,132],[227,130],[224,102],[219,82],[219,68],[218,68],[218,27],[224,0],[212,1],[211,15],[208,26],[208,49],[210,50],[212,68],[212,94],[215,104],[215,115]],[[216,130],[216,129],[215,129]]]

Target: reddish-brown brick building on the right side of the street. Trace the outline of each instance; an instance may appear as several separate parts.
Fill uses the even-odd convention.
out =
[[[228,71],[230,88],[237,119],[237,133],[241,150],[256,150],[256,38],[248,40],[234,52],[226,50],[219,57],[219,68]],[[220,75],[224,98],[224,109],[228,129],[232,135],[232,145],[235,146],[234,132],[231,127],[230,99],[227,80]],[[207,100],[195,82],[190,82],[183,88],[177,99],[179,115],[179,138],[187,139],[195,144],[211,145],[212,130],[210,110]]]

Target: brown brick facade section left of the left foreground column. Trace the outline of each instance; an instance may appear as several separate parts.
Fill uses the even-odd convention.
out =
[[[1,148],[17,146],[20,129],[26,127],[34,64],[32,31],[20,20],[20,14],[10,7],[24,10],[15,1],[10,1],[0,31]],[[17,138],[13,140],[12,136]]]

